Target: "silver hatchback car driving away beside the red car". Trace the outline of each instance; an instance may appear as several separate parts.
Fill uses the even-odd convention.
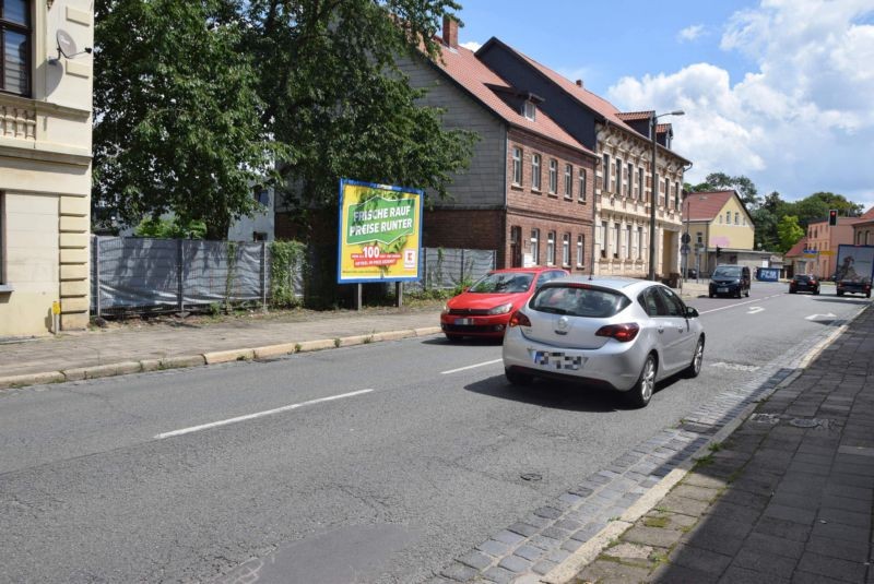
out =
[[[657,381],[700,373],[704,346],[698,311],[668,286],[574,276],[545,284],[510,318],[504,370],[512,384],[571,379],[643,407]]]

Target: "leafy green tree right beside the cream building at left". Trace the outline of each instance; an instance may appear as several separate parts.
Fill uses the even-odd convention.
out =
[[[284,150],[261,121],[252,57],[222,0],[98,0],[95,210],[127,224],[173,212],[223,239]]]

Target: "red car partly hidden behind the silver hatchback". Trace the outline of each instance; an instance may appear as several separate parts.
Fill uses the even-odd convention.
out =
[[[440,314],[440,329],[449,341],[464,336],[503,338],[510,315],[529,301],[534,290],[551,279],[568,275],[556,267],[495,270],[451,298]]]

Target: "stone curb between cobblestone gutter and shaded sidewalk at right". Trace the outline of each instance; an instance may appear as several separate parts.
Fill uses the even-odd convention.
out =
[[[659,501],[666,496],[681,480],[686,478],[686,475],[695,466],[698,458],[707,456],[710,452],[712,444],[718,444],[727,440],[746,419],[756,410],[758,403],[773,395],[775,392],[790,385],[795,381],[804,369],[818,357],[831,343],[834,343],[845,331],[849,327],[855,319],[862,315],[869,307],[863,308],[845,324],[829,334],[826,338],[817,343],[807,354],[801,359],[799,368],[790,373],[775,388],[763,394],[758,401],[747,404],[734,418],[725,422],[706,443],[701,445],[688,460],[683,461],[676,468],[671,470],[663,479],[657,482],[652,488],[647,491],[640,499],[638,499],[631,506],[629,506],[622,516],[614,522],[611,522],[606,527],[598,532],[593,537],[586,541],[581,547],[571,553],[565,561],[553,568],[544,574],[540,582],[543,584],[568,584],[571,582],[580,571],[589,565],[595,558],[619,535],[634,526],[640,517],[652,511]]]

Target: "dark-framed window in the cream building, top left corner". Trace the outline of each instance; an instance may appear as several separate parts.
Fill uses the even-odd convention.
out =
[[[0,0],[0,91],[31,93],[31,2]]]

